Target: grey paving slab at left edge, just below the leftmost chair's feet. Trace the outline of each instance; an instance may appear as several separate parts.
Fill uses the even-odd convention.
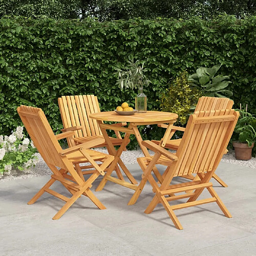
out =
[[[36,246],[41,242],[50,242],[59,238],[77,237],[78,233],[100,230],[92,223],[78,216],[62,216],[52,220],[56,210],[27,211],[20,214],[0,217],[1,250],[21,246]]]

